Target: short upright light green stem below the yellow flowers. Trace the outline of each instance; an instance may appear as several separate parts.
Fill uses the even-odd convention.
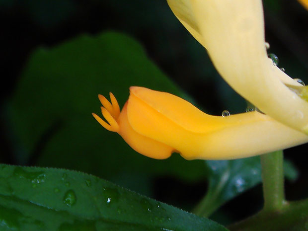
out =
[[[283,151],[261,155],[264,211],[277,211],[285,205]]]

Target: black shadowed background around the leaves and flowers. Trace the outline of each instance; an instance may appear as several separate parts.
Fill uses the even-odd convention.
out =
[[[265,0],[264,7],[269,52],[279,57],[279,67],[289,76],[308,82],[308,11],[296,0]],[[4,163],[20,164],[14,157],[4,110],[31,52],[84,33],[112,30],[131,35],[153,62],[209,114],[245,110],[245,101],[219,77],[205,49],[175,18],[165,0],[0,0],[0,25],[0,159]],[[307,148],[303,145],[285,151],[300,172],[295,182],[286,182],[287,199],[308,196]],[[28,164],[36,165],[35,161]],[[203,181],[187,184],[158,177],[154,180],[154,198],[186,208],[185,204],[202,197],[206,187]],[[262,203],[260,192],[261,186],[248,190],[227,203],[216,217],[223,216],[228,222],[255,212]],[[232,214],[234,207],[242,213]]]

